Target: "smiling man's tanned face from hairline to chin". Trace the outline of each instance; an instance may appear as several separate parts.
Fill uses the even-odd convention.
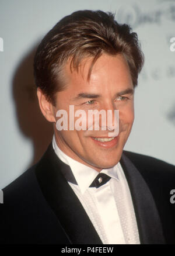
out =
[[[54,133],[58,147],[65,154],[100,171],[103,168],[111,168],[120,161],[134,122],[134,88],[127,61],[121,54],[117,56],[103,54],[98,58],[88,81],[91,62],[92,58],[85,58],[79,71],[71,72],[68,61],[65,66],[67,88],[56,94],[55,119],[58,120],[57,111],[64,109],[68,113],[69,120],[69,105],[74,105],[75,112],[85,110],[88,113],[90,109],[103,109],[106,113],[107,110],[113,110],[114,113],[114,110],[119,110],[118,136],[111,141],[104,141],[104,138],[109,138],[108,130],[58,131],[55,125]],[[75,120],[77,118],[75,117]]]

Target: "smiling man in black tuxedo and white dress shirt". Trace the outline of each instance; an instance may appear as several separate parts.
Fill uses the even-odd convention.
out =
[[[44,37],[34,76],[54,137],[3,189],[1,243],[174,243],[174,166],[123,151],[142,65],[136,34],[111,13],[74,12]]]

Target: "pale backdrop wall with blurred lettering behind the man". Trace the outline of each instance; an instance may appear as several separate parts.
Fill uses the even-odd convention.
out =
[[[138,33],[145,66],[125,150],[175,164],[175,1],[0,0],[1,189],[34,164],[51,140],[34,94],[34,50],[58,20],[80,9],[113,11]]]

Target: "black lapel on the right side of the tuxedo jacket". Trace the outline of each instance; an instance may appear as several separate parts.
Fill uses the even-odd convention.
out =
[[[124,153],[120,163],[131,191],[141,244],[164,244],[162,224],[148,185]]]

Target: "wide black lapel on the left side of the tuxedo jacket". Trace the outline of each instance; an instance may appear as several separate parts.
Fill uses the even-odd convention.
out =
[[[81,202],[62,175],[62,168],[69,166],[59,160],[50,144],[36,168],[44,197],[58,217],[71,244],[102,244]]]

